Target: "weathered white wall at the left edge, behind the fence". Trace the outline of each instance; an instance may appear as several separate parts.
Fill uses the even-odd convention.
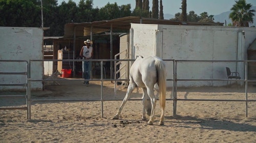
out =
[[[42,60],[43,31],[36,27],[0,27],[0,60]],[[26,63],[0,63],[0,72],[25,72]],[[43,63],[31,64],[31,78],[42,79]],[[26,83],[24,75],[0,75],[0,82]],[[33,81],[33,90],[41,90],[42,83]],[[26,89],[26,87],[0,87],[5,89]]]

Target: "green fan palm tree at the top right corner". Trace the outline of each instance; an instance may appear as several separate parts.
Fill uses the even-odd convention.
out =
[[[249,22],[253,23],[253,12],[255,12],[255,10],[251,9],[251,4],[246,4],[246,0],[234,2],[236,2],[236,4],[230,9],[232,12],[229,14],[233,26],[249,27]]]

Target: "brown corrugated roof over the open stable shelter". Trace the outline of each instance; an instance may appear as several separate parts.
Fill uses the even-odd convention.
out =
[[[208,26],[223,26],[224,23],[201,23],[201,22],[183,22],[173,20],[162,20],[154,18],[144,18],[137,16],[127,16],[112,20],[102,20],[83,23],[68,23],[65,24],[64,37],[89,36],[91,27],[93,27],[93,34],[98,34],[110,31],[111,25],[113,30],[129,30],[131,23],[143,24],[166,24],[166,25],[208,25]]]

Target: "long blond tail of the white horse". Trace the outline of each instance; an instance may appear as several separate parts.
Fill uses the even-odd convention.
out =
[[[156,60],[155,65],[157,69],[157,77],[158,77],[157,82],[159,86],[159,102],[163,111],[165,108],[165,96],[166,96],[166,69],[165,69],[164,62],[160,59]]]

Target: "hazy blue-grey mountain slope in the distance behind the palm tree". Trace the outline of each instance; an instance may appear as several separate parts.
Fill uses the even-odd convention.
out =
[[[256,10],[256,6],[253,6],[251,7],[251,9],[254,9]],[[227,25],[229,23],[232,23],[232,20],[229,19],[229,14],[231,13],[232,11],[227,11],[227,12],[223,12],[221,14],[218,14],[218,15],[215,15],[214,16],[214,21],[215,22],[221,22],[221,23],[224,23],[225,25],[225,20],[227,22]],[[254,16],[253,16],[253,23],[249,23],[250,26],[254,25],[256,26],[256,13],[254,12]]]

